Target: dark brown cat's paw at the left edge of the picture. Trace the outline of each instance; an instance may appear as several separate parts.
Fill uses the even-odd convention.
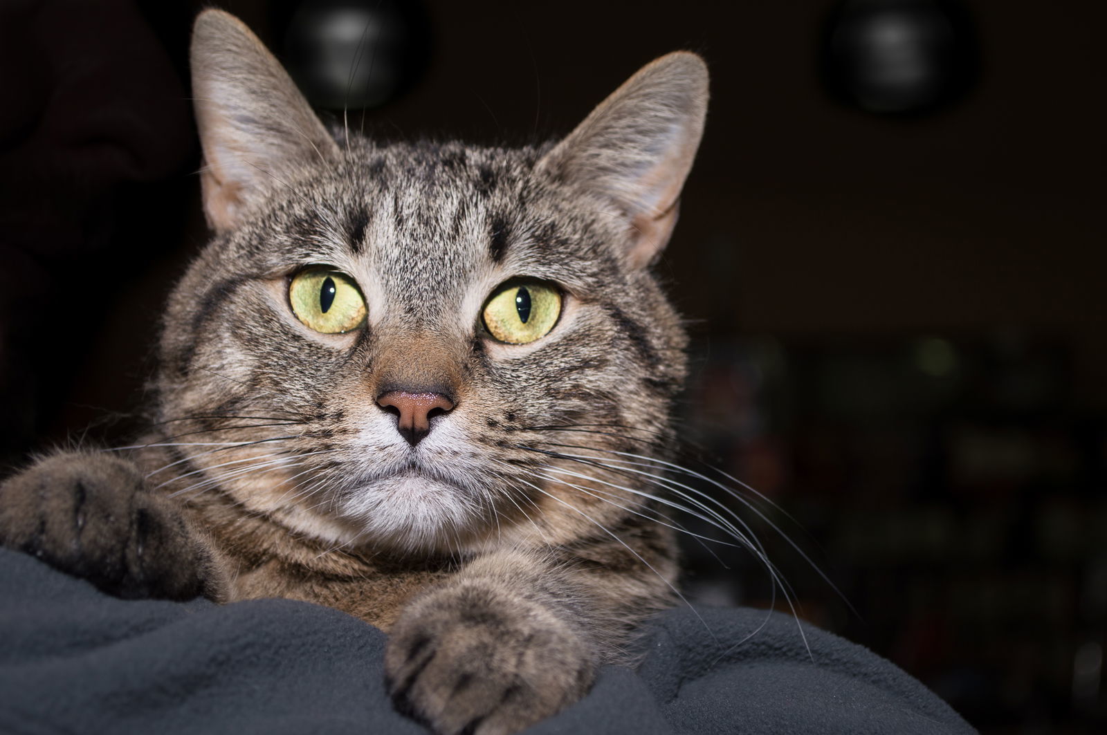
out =
[[[213,597],[214,563],[180,511],[131,463],[55,454],[0,485],[0,546],[125,598]]]

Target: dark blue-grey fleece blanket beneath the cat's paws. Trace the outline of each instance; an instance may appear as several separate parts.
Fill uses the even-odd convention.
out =
[[[973,732],[861,646],[805,625],[808,654],[792,618],[696,612],[661,615],[637,671],[603,669],[587,697],[527,733]],[[289,600],[117,600],[0,549],[4,734],[425,734],[384,692],[384,641]]]

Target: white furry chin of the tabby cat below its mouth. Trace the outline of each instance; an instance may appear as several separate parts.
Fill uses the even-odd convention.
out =
[[[418,469],[351,488],[335,508],[360,529],[359,541],[399,551],[457,550],[487,519],[470,491]]]

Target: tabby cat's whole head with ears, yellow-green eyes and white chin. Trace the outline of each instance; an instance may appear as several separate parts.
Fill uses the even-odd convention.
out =
[[[192,63],[216,236],[161,346],[158,420],[196,442],[179,490],[401,549],[578,538],[641,503],[596,465],[671,438],[685,337],[650,265],[703,128],[697,56],[515,149],[337,139],[224,12]]]

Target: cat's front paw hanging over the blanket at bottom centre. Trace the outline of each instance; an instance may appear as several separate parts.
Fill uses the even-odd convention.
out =
[[[407,607],[390,632],[389,692],[441,735],[508,735],[579,700],[589,645],[548,608],[465,581]]]

